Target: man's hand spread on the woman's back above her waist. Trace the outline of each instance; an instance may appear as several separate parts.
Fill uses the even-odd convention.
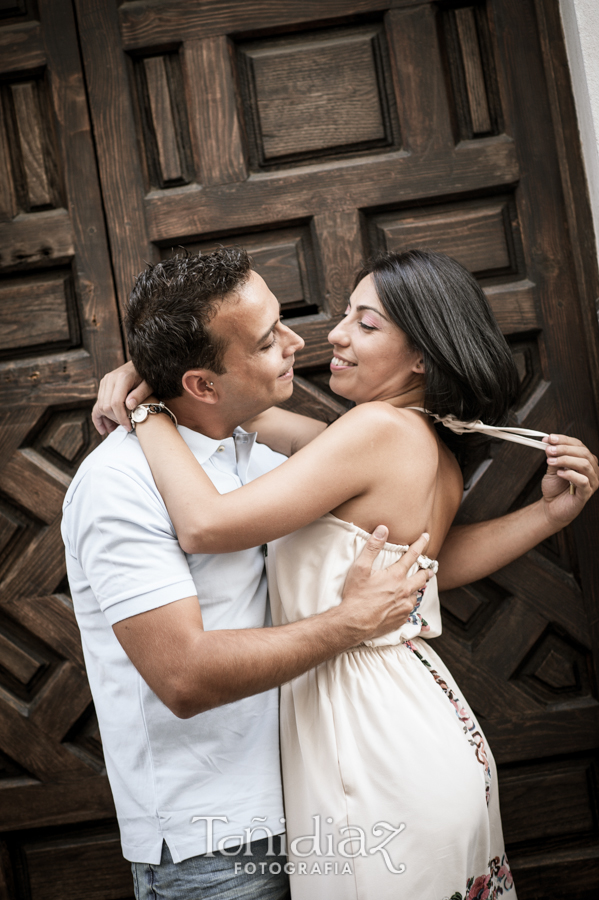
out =
[[[374,560],[383,549],[388,534],[389,529],[379,525],[368,538],[348,572],[343,603],[337,607],[356,629],[356,643],[401,628],[416,605],[417,592],[432,577],[430,569],[418,569],[408,577],[409,570],[428,544],[428,534],[414,541],[396,563],[373,571]]]

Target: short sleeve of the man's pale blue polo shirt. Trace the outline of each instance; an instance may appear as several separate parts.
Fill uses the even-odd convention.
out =
[[[197,595],[162,498],[143,480],[93,468],[65,517],[67,553],[77,559],[111,625]]]

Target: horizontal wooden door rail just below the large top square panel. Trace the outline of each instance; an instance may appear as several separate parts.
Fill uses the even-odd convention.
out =
[[[146,201],[152,240],[177,240],[222,228],[226,211],[230,228],[271,224],[310,216],[319,204],[343,208],[407,203],[460,191],[493,190],[518,180],[514,145],[503,138],[463,145],[451,153],[390,153],[343,166],[323,163],[286,175],[255,175],[245,184],[153,192]]]

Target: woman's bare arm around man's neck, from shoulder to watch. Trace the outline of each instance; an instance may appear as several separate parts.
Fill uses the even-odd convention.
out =
[[[181,547],[226,553],[289,534],[366,493],[390,435],[399,455],[409,449],[395,417],[386,403],[350,410],[283,465],[222,495],[167,416],[148,416],[136,434]]]

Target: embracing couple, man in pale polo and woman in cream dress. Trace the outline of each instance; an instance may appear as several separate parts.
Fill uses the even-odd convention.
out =
[[[328,428],[276,408],[303,342],[242,250],[148,267],[127,333],[63,536],[136,898],[515,898],[491,750],[427,639],[438,588],[599,478],[580,441],[499,428],[546,454],[543,498],[452,527],[468,423],[504,426],[518,384],[476,281],[422,251],[358,273]]]

